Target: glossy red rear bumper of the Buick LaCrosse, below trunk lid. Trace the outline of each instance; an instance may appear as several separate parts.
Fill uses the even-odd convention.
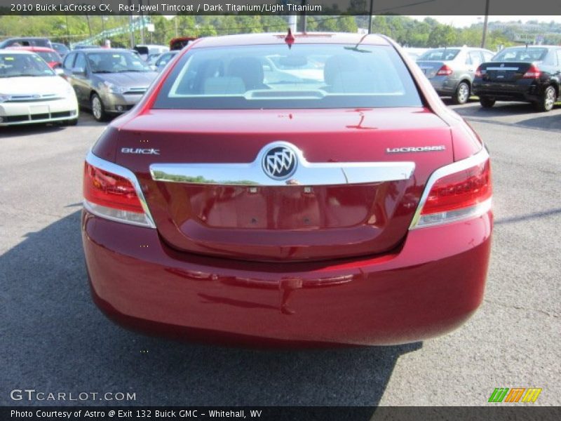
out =
[[[96,304],[148,333],[249,345],[391,345],[460,326],[485,289],[492,214],[414,229],[392,255],[262,263],[178,253],[83,211]]]

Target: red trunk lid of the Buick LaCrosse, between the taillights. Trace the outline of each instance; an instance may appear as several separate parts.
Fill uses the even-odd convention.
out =
[[[308,174],[318,166],[371,163],[387,171],[370,175],[367,168],[351,168],[317,171],[313,182],[306,175],[288,185],[272,179],[269,185],[244,183],[248,177],[242,173],[251,163],[257,163],[251,171],[260,180],[269,180],[258,156],[279,140],[301,151],[299,165],[309,164]],[[135,149],[147,152],[128,153]],[[137,175],[159,234],[177,250],[248,260],[325,260],[398,247],[428,175],[451,163],[452,152],[450,128],[424,108],[151,110],[121,128],[116,163]],[[209,165],[226,175],[196,177]],[[233,165],[243,171],[231,172]],[[396,175],[404,165],[411,172]],[[158,177],[154,168],[165,166],[172,171]]]

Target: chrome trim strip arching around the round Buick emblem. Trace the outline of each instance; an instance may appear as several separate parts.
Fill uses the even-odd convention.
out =
[[[273,180],[262,169],[266,152],[279,146],[289,147],[298,157],[296,171],[288,180]],[[271,142],[251,163],[153,163],[150,174],[155,181],[196,185],[319,186],[408,180],[414,169],[414,162],[310,163],[295,145]]]

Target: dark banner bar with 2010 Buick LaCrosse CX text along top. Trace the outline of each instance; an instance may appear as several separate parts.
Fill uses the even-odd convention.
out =
[[[561,15],[551,0],[0,0],[0,15]]]

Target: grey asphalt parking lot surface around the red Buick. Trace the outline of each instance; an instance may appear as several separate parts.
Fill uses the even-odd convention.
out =
[[[137,405],[461,405],[540,387],[561,405],[561,107],[454,106],[492,155],[485,300],[459,330],[396,347],[273,351],[130,333],[90,300],[79,231],[83,157],[104,128],[0,128],[0,404],[13,389],[134,392]],[[31,402],[31,404],[59,402]],[[115,401],[90,402],[115,404]]]

